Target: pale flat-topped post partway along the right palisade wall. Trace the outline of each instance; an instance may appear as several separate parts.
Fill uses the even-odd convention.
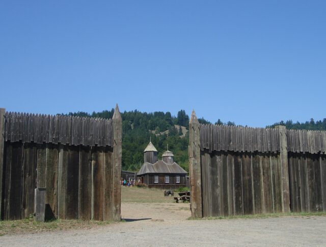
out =
[[[289,164],[287,159],[286,127],[278,126],[278,129],[280,132],[282,212],[290,212]]]

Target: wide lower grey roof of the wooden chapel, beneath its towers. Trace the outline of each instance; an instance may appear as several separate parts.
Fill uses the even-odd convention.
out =
[[[147,173],[174,173],[174,174],[187,174],[177,163],[171,165],[164,161],[157,161],[155,164],[145,162],[137,175],[143,175]]]

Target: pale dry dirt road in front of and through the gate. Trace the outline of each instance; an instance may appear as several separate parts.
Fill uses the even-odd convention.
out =
[[[326,217],[187,220],[189,204],[122,203],[126,222],[5,235],[1,246],[326,246]]]

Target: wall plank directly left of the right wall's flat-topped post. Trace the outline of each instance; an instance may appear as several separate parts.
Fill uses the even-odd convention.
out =
[[[264,196],[264,207],[263,211],[266,213],[273,212],[273,191],[270,175],[270,159],[267,153],[264,153],[261,157],[261,168],[262,168],[262,185],[263,185],[263,196]]]

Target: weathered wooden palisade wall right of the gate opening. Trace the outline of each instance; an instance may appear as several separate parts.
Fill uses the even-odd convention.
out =
[[[189,123],[193,217],[326,210],[326,132]]]

